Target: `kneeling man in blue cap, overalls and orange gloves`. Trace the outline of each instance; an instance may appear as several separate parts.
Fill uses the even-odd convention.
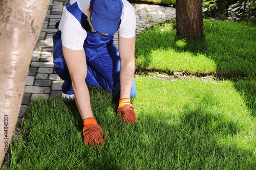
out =
[[[136,96],[134,9],[126,0],[71,0],[56,28],[53,58],[55,71],[65,80],[62,92],[75,95],[84,141],[103,143],[104,133],[93,116],[87,85],[120,95],[117,112],[124,121],[136,122],[130,104]],[[119,52],[113,43],[117,30]]]

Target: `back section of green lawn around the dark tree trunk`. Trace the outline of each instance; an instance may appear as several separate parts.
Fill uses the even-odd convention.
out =
[[[255,78],[254,23],[204,19],[204,35],[182,39],[173,22],[142,31],[136,39],[137,69]]]

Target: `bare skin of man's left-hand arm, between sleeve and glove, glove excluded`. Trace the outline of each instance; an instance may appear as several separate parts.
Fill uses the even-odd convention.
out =
[[[94,117],[88,87],[85,82],[87,76],[86,54],[83,49],[71,50],[63,45],[62,51],[69,69],[76,105],[80,115],[82,119]]]

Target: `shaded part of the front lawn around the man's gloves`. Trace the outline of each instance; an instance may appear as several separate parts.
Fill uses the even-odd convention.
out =
[[[99,92],[100,91],[100,92]],[[98,93],[99,92],[99,93]],[[31,116],[29,121],[34,127],[26,128],[28,138],[33,138],[23,148],[16,158],[12,158],[12,168],[26,169],[254,169],[251,151],[238,149],[236,145],[219,144],[220,139],[234,136],[239,131],[236,123],[215,115],[204,108],[189,109],[184,107],[177,118],[173,115],[164,117],[166,113],[149,115],[146,113],[140,122],[129,125],[123,123],[122,118],[113,115],[114,106],[105,91],[93,90],[93,94],[106,94],[95,96],[92,106],[96,112],[98,124],[104,129],[106,137],[104,145],[99,148],[87,147],[83,144],[80,135],[81,118],[77,114],[74,101],[65,101],[70,109],[67,116],[60,114],[58,117],[44,119],[38,110],[58,113],[63,105],[49,99],[47,103],[36,103],[36,109],[29,114],[38,114],[38,118]],[[101,100],[98,100],[101,98]],[[47,109],[45,109],[47,108]],[[29,108],[31,109],[31,108]],[[64,108],[66,110],[66,108]],[[35,112],[37,110],[37,112]],[[73,118],[72,118],[73,117]],[[40,119],[37,122],[37,119]],[[32,129],[49,124],[54,127],[54,122],[61,120],[58,126],[67,124],[74,119],[72,124],[66,126],[68,133],[58,134],[58,131],[38,131]],[[172,120],[172,121],[170,121]],[[72,125],[77,126],[78,132],[73,131]],[[58,127],[55,127],[58,128]],[[18,157],[18,158],[17,158]],[[16,165],[16,166],[14,166]]]

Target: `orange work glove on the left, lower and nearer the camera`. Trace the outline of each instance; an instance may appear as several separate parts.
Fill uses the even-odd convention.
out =
[[[104,144],[103,137],[105,136],[105,133],[102,131],[100,126],[96,123],[95,118],[86,118],[83,120],[83,139],[84,142],[88,143],[92,146],[94,143]],[[103,135],[103,137],[102,137]]]

